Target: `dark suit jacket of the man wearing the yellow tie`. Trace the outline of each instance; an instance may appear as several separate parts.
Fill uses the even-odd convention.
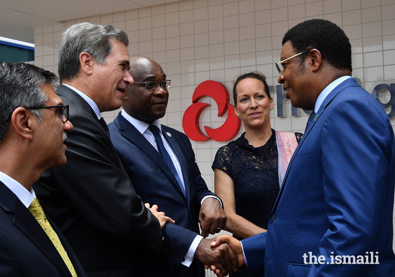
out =
[[[71,277],[45,231],[18,197],[0,182],[0,276]],[[70,245],[47,217],[78,277],[85,273]]]

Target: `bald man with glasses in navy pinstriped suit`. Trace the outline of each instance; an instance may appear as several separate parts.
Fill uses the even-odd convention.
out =
[[[141,199],[157,204],[175,220],[162,230],[159,259],[141,253],[136,275],[204,276],[201,262],[218,257],[222,274],[230,273],[229,253],[237,262],[233,251],[226,244],[211,248],[212,239],[205,239],[226,224],[220,199],[207,189],[188,137],[159,121],[166,113],[170,80],[158,63],[146,57],[132,57],[130,67],[134,84],[127,87],[122,111],[109,124],[111,141]]]

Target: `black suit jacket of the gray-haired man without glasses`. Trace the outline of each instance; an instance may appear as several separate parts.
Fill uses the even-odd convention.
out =
[[[69,87],[56,93],[70,106],[74,126],[65,141],[67,163],[46,171],[33,188],[87,276],[134,276],[137,249],[159,253],[159,221],[136,194],[89,104]]]

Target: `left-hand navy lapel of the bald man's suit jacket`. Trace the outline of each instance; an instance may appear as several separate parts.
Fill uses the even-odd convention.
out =
[[[132,125],[129,121],[127,121],[122,115],[118,115],[117,118],[114,120],[115,125],[117,128],[122,131],[121,134],[128,140],[132,141],[135,145],[137,145],[141,151],[143,151],[147,156],[149,156],[152,161],[154,161],[160,169],[166,174],[166,176],[171,180],[174,186],[180,191],[182,196],[184,193],[182,192],[177,179],[174,177],[173,173],[171,172],[169,166],[166,164],[162,156],[156,151],[155,147],[147,141],[146,138]]]

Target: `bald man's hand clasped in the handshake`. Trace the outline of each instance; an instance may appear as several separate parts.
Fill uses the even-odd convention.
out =
[[[213,243],[214,239],[203,238],[195,251],[195,258],[203,264],[213,265],[218,276],[227,276],[239,267],[238,258],[228,244],[211,246]]]

